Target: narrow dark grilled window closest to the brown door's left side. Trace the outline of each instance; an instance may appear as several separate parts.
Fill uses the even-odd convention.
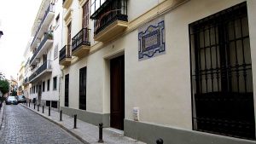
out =
[[[86,110],[86,67],[79,70],[79,109]]]

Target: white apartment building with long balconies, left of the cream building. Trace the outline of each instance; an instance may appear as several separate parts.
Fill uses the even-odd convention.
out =
[[[30,45],[30,95],[39,105],[54,108],[59,106],[61,4],[60,0],[42,1],[32,26],[33,39]]]

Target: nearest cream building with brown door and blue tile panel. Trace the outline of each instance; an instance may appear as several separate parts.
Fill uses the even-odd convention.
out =
[[[62,6],[63,112],[147,143],[255,143],[255,1]]]

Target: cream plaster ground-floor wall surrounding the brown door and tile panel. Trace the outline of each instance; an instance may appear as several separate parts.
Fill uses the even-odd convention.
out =
[[[190,0],[164,15],[166,26],[166,54],[138,61],[137,30],[128,33],[82,60],[73,58],[73,64],[63,70],[61,106],[64,106],[64,78],[69,73],[69,107],[79,108],[79,69],[87,66],[87,111],[110,112],[109,60],[125,51],[125,118],[132,119],[132,108],[140,108],[140,120],[192,130],[189,24],[228,9],[243,0]],[[73,2],[74,3],[74,2]],[[153,8],[157,1],[145,2],[147,7],[135,9],[139,4],[129,1],[129,19]],[[251,48],[256,45],[255,1],[248,0]],[[150,7],[150,5],[152,7]],[[130,9],[130,10],[129,10]],[[81,27],[80,17],[73,12],[72,37]],[[191,13],[193,12],[193,13]],[[78,19],[78,20],[76,20]],[[77,21],[77,22],[76,22]],[[93,24],[90,23],[90,26]],[[92,30],[93,32],[93,30]],[[66,37],[67,32],[64,32]],[[252,49],[253,69],[256,51]],[[253,82],[256,77],[253,78]],[[254,85],[256,89],[256,86]]]

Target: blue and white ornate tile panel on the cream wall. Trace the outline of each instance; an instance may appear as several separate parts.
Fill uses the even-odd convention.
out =
[[[165,20],[160,17],[138,30],[138,60],[166,54]]]

